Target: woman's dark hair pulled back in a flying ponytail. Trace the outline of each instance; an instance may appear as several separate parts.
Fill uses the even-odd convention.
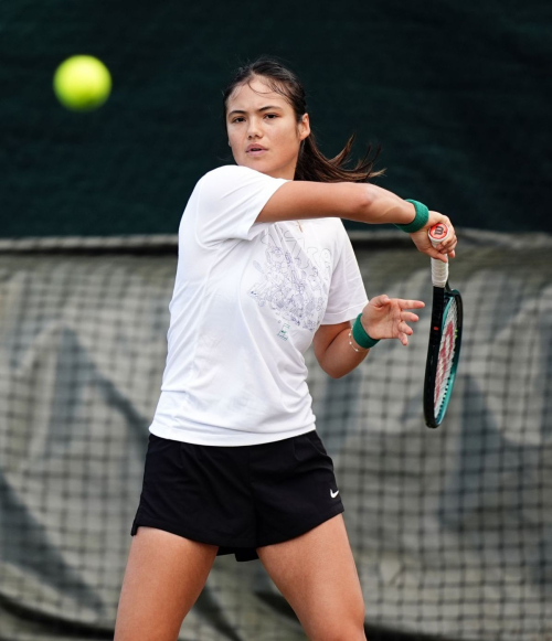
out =
[[[262,76],[263,82],[273,90],[286,98],[294,108],[297,122],[301,121],[307,113],[305,89],[299,78],[277,60],[261,56],[255,62],[238,67],[229,86],[223,92],[223,124],[226,130],[226,104],[232,92],[242,85],[250,84],[256,76]],[[342,167],[351,152],[355,135],[353,133],[343,149],[335,158],[326,158],[318,149],[312,129],[309,136],[301,140],[299,158],[295,169],[294,180],[311,180],[316,182],[367,182],[371,178],[382,175],[385,170],[372,171],[375,159],[380,154],[381,146],[378,145],[375,156],[369,160],[372,146],[368,146],[368,152],[362,160],[357,162],[353,169]]]

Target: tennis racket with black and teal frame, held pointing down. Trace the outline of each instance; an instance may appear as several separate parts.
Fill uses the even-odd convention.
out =
[[[438,223],[429,232],[437,247],[448,237]],[[424,416],[427,427],[438,427],[445,417],[458,368],[463,306],[460,292],[448,286],[448,263],[432,258],[433,309],[424,381]]]

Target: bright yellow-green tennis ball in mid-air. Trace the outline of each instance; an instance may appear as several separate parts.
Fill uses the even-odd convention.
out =
[[[92,55],[74,55],[56,68],[54,93],[73,111],[92,111],[103,105],[112,92],[107,67]]]

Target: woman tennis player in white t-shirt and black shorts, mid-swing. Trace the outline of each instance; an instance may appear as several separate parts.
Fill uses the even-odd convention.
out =
[[[364,603],[304,354],[344,376],[379,340],[407,345],[418,300],[368,301],[341,218],[394,223],[454,257],[448,217],[328,160],[305,90],[278,61],[224,92],[236,164],[197,183],[179,228],[168,356],[115,641],[174,641],[215,556],[259,558],[312,641],[364,640]],[[370,152],[370,148],[369,148]],[[450,237],[438,249],[429,226]]]

